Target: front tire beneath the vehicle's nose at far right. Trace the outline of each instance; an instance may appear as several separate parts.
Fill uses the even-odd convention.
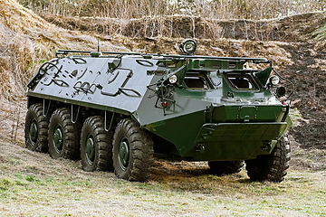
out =
[[[284,135],[268,156],[257,156],[254,160],[245,161],[245,168],[253,181],[282,182],[289,168],[290,142]]]

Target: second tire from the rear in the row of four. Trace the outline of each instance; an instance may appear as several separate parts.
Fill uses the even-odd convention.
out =
[[[56,147],[54,133],[60,131],[62,146]],[[71,110],[67,108],[56,109],[49,123],[49,152],[54,159],[78,159],[80,156],[80,130],[77,124],[72,123]]]

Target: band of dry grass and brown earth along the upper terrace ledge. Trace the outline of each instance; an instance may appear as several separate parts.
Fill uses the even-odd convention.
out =
[[[194,15],[165,15],[138,19],[72,17],[41,14],[50,23],[70,30],[117,34],[128,37],[243,39],[250,41],[301,42],[321,38],[325,13],[298,14],[273,20],[220,20]],[[317,36],[313,36],[317,35]]]

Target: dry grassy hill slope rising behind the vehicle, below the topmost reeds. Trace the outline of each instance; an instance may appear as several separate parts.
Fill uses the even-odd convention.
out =
[[[25,85],[44,60],[53,58],[55,51],[96,50],[100,38],[102,51],[177,53],[177,44],[183,40],[180,37],[195,34],[199,38],[197,54],[265,57],[273,60],[276,70],[294,81],[292,109],[295,109],[296,125],[290,131],[296,141],[293,149],[298,148],[294,162],[319,169],[325,166],[305,158],[308,152],[315,152],[317,159],[324,155],[322,149],[326,148],[326,48],[323,42],[312,40],[312,33],[321,33],[326,25],[325,13],[271,21],[216,21],[176,16],[127,23],[43,15],[53,23],[50,24],[14,0],[2,0],[0,7],[0,137],[24,146]],[[170,29],[167,24],[172,24]],[[120,34],[115,34],[117,30]],[[218,34],[225,38],[217,39]]]

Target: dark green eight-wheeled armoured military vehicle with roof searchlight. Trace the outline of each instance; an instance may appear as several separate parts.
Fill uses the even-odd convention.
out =
[[[130,181],[148,180],[161,157],[207,161],[216,175],[245,161],[252,180],[281,182],[292,83],[264,58],[196,49],[187,39],[178,55],[56,52],[27,85],[26,147]]]

